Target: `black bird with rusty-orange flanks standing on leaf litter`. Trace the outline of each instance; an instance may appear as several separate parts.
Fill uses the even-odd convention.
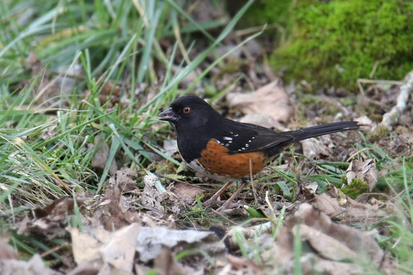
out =
[[[260,173],[291,144],[320,135],[357,130],[354,121],[332,122],[295,131],[277,132],[264,126],[224,118],[202,98],[185,95],[160,109],[159,120],[169,122],[177,134],[178,150],[195,173],[227,181],[204,203],[210,206],[233,184],[242,181],[233,196],[218,210],[225,210],[248,184],[251,174]]]

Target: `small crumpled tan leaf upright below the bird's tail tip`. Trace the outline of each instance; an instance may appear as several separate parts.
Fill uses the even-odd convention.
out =
[[[369,186],[370,192],[377,184],[377,168],[374,159],[364,161],[353,160],[346,170],[347,184],[352,183],[352,179],[361,179]]]

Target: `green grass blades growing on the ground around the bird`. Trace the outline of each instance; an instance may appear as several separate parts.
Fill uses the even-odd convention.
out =
[[[14,222],[29,213],[29,209],[47,206],[66,195],[85,191],[102,194],[113,159],[119,166],[125,164],[140,175],[146,175],[151,173],[149,167],[153,168],[151,165],[155,161],[151,153],[154,152],[167,159],[162,166],[155,164],[157,172],[178,169],[180,163],[160,151],[162,141],[171,131],[167,124],[158,123],[158,109],[176,96],[191,92],[230,54],[218,56],[187,89],[180,89],[182,79],[200,69],[207,56],[235,28],[250,4],[248,1],[226,24],[223,19],[196,23],[180,1],[171,0],[1,1],[0,226],[11,232],[10,242],[22,259],[30,259],[36,252],[46,252],[67,239],[21,236]],[[217,27],[220,27],[220,34],[209,33]],[[180,36],[176,37],[174,30],[178,30]],[[177,65],[174,58],[178,54],[184,56],[197,45],[195,33],[208,41],[207,47],[188,63],[183,60]],[[259,34],[246,38],[238,47]],[[165,37],[176,41],[169,50],[160,45]],[[45,69],[36,72],[27,65],[25,60],[30,52],[36,54]],[[156,64],[165,69],[164,78],[157,75]],[[76,66],[81,67],[81,73],[67,73]],[[45,85],[57,78],[66,82],[75,79],[76,84],[70,91],[56,85],[53,96],[38,100]],[[148,88],[136,95],[136,87],[142,83]],[[119,87],[119,97],[127,104],[102,102],[101,94],[107,87],[114,87],[109,99],[115,87]],[[148,98],[149,94],[153,97]],[[45,133],[50,136],[45,138]],[[109,145],[109,157],[101,174],[91,166],[96,148],[88,147],[94,144],[96,136]],[[411,270],[413,234],[405,222],[413,219],[413,157],[387,155],[363,135],[354,147],[374,158],[379,169],[399,164],[379,178],[379,187],[392,188],[392,194],[396,194],[394,200],[399,202],[400,212],[405,216],[383,221],[390,234],[380,236],[379,242],[396,257],[401,269]],[[317,170],[311,175],[297,176],[293,170],[273,168],[274,173],[260,179],[260,184],[270,186],[271,192],[282,191],[288,199],[295,199],[294,190],[302,179],[316,181],[319,192],[326,190],[328,182],[341,188],[349,165],[349,162],[315,162],[293,151],[283,156],[293,157],[296,166],[296,159],[305,160]],[[75,210],[77,214],[72,225],[81,226],[78,209]],[[284,212],[285,208],[282,216]],[[281,221],[276,223],[273,236],[277,235]],[[247,226],[255,220],[248,217],[236,222]],[[199,197],[198,203],[180,214],[177,220],[182,227],[191,227],[194,223],[203,228],[215,223],[229,225],[225,219],[203,208]],[[297,259],[301,251],[298,241],[295,242]],[[242,248],[241,252],[248,256],[246,249]],[[261,261],[258,253],[253,255],[257,262]],[[46,260],[56,264],[61,256],[60,252],[54,252]],[[297,263],[297,274],[299,270]]]

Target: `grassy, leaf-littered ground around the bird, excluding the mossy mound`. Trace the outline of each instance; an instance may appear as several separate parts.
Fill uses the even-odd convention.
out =
[[[411,274],[413,74],[282,78],[251,3],[1,3],[1,274]],[[204,206],[224,183],[158,120],[188,93],[276,131],[363,127],[287,148],[220,212],[235,184]]]

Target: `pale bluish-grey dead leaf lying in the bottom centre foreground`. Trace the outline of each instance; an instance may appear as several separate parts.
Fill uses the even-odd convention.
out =
[[[197,248],[208,253],[219,255],[225,251],[220,238],[210,231],[170,230],[163,227],[140,228],[136,251],[140,261],[147,263],[162,252],[162,248],[172,251]]]

